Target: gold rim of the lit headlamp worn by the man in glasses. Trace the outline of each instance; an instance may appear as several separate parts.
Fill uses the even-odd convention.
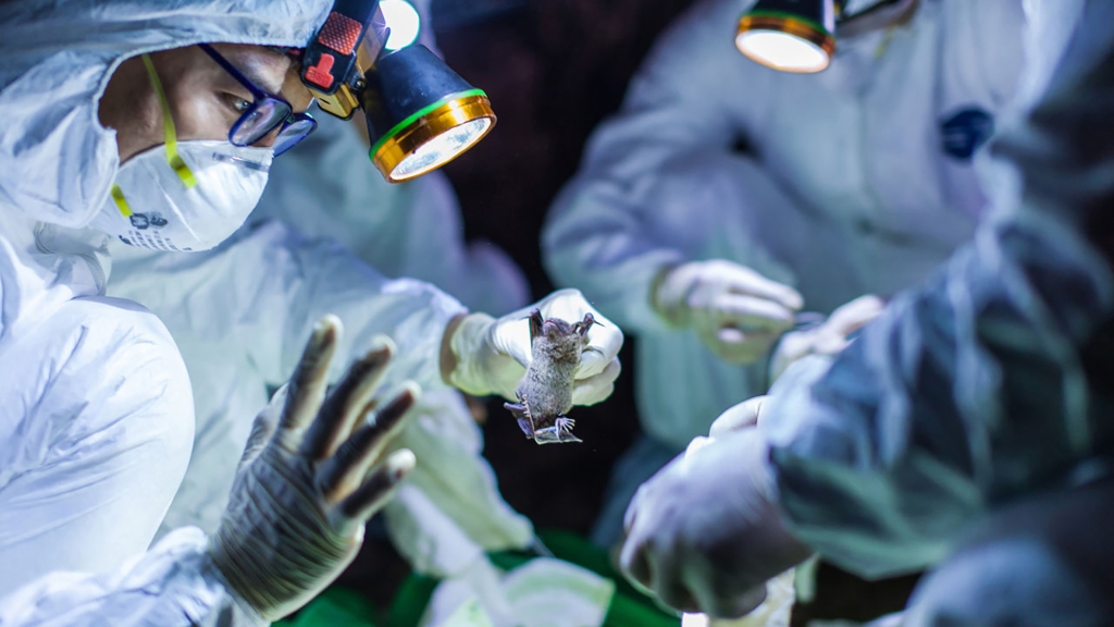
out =
[[[489,118],[491,124],[488,124],[483,133],[472,139],[468,147],[482,139],[495,127],[497,119],[495,110],[491,109],[491,102],[482,89],[469,89],[452,94],[447,98],[423,107],[418,113],[394,125],[391,131],[371,147],[371,161],[383,176],[392,183],[416,179],[428,171],[422,171],[404,179],[397,179],[392,173],[403,160],[434,137],[481,118]],[[438,167],[468,152],[468,147],[459,151],[452,157],[438,165]]]

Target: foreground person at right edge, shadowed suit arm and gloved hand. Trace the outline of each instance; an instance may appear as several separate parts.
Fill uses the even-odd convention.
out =
[[[639,489],[623,566],[670,605],[737,616],[819,551],[935,566],[906,626],[1114,624],[1114,2],[1027,4],[974,241]]]

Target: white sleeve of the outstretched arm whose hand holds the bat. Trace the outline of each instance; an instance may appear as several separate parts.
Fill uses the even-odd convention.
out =
[[[447,387],[441,338],[466,311],[429,283],[387,279],[332,240],[306,239],[278,222],[244,229],[213,251],[116,266],[128,280],[109,282],[110,292],[143,302],[183,337],[247,355],[273,385],[290,378],[313,326],[334,314],[344,324],[334,377],[382,334],[398,346],[388,385],[409,378],[427,389]]]

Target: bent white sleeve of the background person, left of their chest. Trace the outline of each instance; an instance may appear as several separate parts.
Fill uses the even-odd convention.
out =
[[[671,27],[550,209],[543,235],[547,271],[624,328],[663,328],[649,305],[654,277],[688,261],[686,243],[705,241],[716,228],[714,212],[697,206],[701,177],[684,166],[753,139],[764,115],[769,99],[761,94],[773,73],[734,47],[745,4],[701,2]],[[677,209],[683,215],[655,215],[655,191],[671,176],[688,179],[693,204]]]

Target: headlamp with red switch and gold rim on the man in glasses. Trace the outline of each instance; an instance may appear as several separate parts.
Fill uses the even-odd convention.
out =
[[[424,46],[387,50],[379,0],[336,0],[306,46],[302,81],[325,113],[348,119],[362,108],[369,156],[399,183],[460,156],[495,125],[487,95]]]

